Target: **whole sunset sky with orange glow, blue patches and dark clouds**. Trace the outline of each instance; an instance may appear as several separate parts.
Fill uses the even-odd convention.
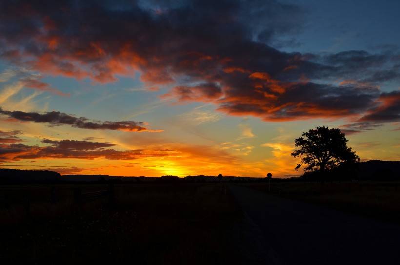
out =
[[[400,2],[0,2],[0,167],[120,176],[301,175],[340,128],[400,160]]]

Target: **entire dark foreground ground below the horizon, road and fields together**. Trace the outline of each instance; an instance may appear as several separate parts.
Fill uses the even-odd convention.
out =
[[[0,260],[400,264],[397,183],[348,184],[120,184],[79,202],[107,185],[0,186]]]

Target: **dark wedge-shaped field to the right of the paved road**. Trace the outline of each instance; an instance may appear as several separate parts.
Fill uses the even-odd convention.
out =
[[[241,184],[268,193],[262,183]],[[400,223],[400,182],[271,182],[270,194]]]

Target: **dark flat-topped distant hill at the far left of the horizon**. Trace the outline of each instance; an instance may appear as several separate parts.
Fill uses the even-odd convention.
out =
[[[0,168],[0,183],[59,182],[60,173],[48,170],[19,170]]]

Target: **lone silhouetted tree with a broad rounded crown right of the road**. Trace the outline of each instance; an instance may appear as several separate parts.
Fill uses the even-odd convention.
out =
[[[360,161],[356,152],[347,147],[348,141],[340,129],[329,129],[329,127],[317,127],[302,134],[303,137],[295,139],[296,147],[290,155],[301,157],[302,165],[306,165],[304,171],[331,170],[338,166],[348,166]],[[323,175],[322,175],[323,177]]]

